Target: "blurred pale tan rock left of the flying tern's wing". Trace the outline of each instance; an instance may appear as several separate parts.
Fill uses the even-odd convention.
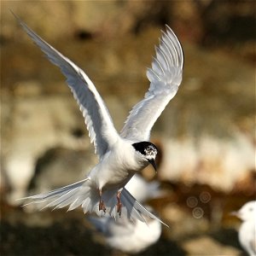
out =
[[[73,114],[76,106],[71,97],[17,97],[9,104],[12,118],[4,132],[2,157],[13,189],[9,200],[13,201],[24,196],[35,164],[48,148],[87,148],[90,143],[83,138],[83,119]],[[78,137],[74,131],[81,131],[81,135]]]

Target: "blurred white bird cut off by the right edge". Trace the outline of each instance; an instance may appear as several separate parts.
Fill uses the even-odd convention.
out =
[[[248,201],[237,212],[231,212],[237,218],[240,218],[242,224],[238,232],[238,239],[241,247],[250,256],[256,255],[256,201]]]

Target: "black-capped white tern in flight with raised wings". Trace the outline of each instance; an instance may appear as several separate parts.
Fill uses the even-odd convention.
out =
[[[102,96],[86,73],[15,17],[49,61],[60,67],[67,78],[67,85],[83,113],[90,142],[94,144],[99,159],[83,180],[24,200],[43,203],[43,208],[69,206],[68,211],[71,211],[81,206],[84,213],[96,212],[98,216],[107,214],[116,218],[125,215],[142,222],[146,222],[146,218],[155,218],[163,223],[124,187],[135,173],[149,164],[156,170],[154,160],[158,151],[149,142],[150,131],[167,103],[176,95],[183,74],[183,49],[172,29],[166,26],[159,47],[155,48],[156,56],[147,71],[148,92],[131,109],[123,129],[118,132]]]

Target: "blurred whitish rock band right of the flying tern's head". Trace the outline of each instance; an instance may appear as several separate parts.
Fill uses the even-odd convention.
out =
[[[231,134],[230,134],[231,136]],[[207,184],[212,189],[230,193],[249,172],[255,172],[253,143],[241,133],[234,137],[201,136],[197,139],[167,139],[159,170],[161,180],[188,185]],[[240,191],[255,192],[255,177]],[[221,180],[221,183],[219,182]]]

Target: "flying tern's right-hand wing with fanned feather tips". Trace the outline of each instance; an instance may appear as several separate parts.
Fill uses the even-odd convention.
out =
[[[121,137],[136,141],[148,141],[150,131],[160,113],[176,95],[183,74],[183,49],[169,26],[162,32],[160,46],[152,68],[148,68],[150,83],[143,101],[138,102],[130,112],[120,132]]]

